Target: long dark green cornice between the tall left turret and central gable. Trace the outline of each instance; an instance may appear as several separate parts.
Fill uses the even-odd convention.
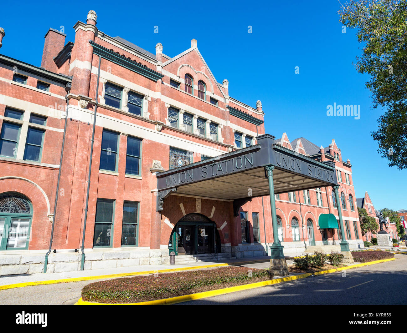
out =
[[[98,56],[101,56],[103,59],[111,61],[112,63],[115,63],[117,65],[123,66],[128,70],[138,73],[155,82],[161,80],[164,77],[164,75],[156,72],[155,70],[151,70],[150,68],[143,66],[137,63],[136,61],[127,59],[126,57],[123,57],[122,55],[117,54],[116,52],[113,52],[108,48],[100,46],[99,44],[96,44],[93,41],[89,41],[89,43],[93,47],[93,53]]]

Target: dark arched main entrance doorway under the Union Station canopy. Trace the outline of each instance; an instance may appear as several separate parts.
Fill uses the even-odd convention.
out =
[[[221,252],[216,224],[201,214],[185,215],[175,224],[168,249],[175,255]]]

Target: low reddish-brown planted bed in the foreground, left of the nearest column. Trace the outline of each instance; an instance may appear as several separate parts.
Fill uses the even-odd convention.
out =
[[[267,281],[270,278],[268,270],[236,266],[162,273],[158,276],[133,276],[90,283],[82,288],[82,298],[98,303],[137,303]]]

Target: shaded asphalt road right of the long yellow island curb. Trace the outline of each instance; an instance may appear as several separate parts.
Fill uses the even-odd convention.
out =
[[[346,304],[405,305],[407,255],[397,260],[230,294],[181,305]],[[256,264],[258,265],[258,264]],[[259,265],[260,266],[260,265]],[[257,267],[259,268],[259,267]]]

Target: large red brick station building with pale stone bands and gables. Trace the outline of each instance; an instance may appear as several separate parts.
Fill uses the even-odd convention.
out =
[[[232,98],[195,39],[175,57],[160,43],[153,54],[99,31],[96,19],[90,11],[74,25],[74,42],[50,29],[41,67],[0,54],[0,274],[42,272],[44,260],[47,272],[61,272],[168,263],[170,251],[177,261],[190,258],[185,253],[265,255],[274,235],[263,187],[245,185],[241,201],[199,195],[207,193],[199,185],[193,196],[173,192],[164,200],[157,180],[165,170],[250,151],[258,137],[274,140],[265,136],[261,102]],[[338,205],[350,248],[363,246],[352,168],[335,140],[324,148],[283,133],[273,142],[336,172],[310,189],[298,175],[276,180],[276,193],[287,184],[298,189],[275,197],[284,253],[337,245],[337,226],[320,228],[319,218],[339,220]],[[239,179],[218,193],[232,193]],[[340,202],[326,186],[336,181]]]

